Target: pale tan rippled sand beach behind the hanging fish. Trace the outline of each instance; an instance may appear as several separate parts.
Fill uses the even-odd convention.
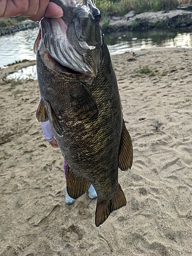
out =
[[[134,161],[119,170],[127,205],[99,227],[88,194],[65,204],[62,155],[35,120],[37,81],[1,81],[1,256],[192,255],[192,51],[136,54],[112,56]]]

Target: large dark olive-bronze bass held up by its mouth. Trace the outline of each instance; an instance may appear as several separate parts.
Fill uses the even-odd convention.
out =
[[[34,44],[41,100],[36,119],[50,121],[68,163],[73,199],[92,184],[95,225],[126,205],[118,168],[131,169],[133,145],[123,120],[117,78],[93,0],[52,0],[61,18],[42,18]]]

